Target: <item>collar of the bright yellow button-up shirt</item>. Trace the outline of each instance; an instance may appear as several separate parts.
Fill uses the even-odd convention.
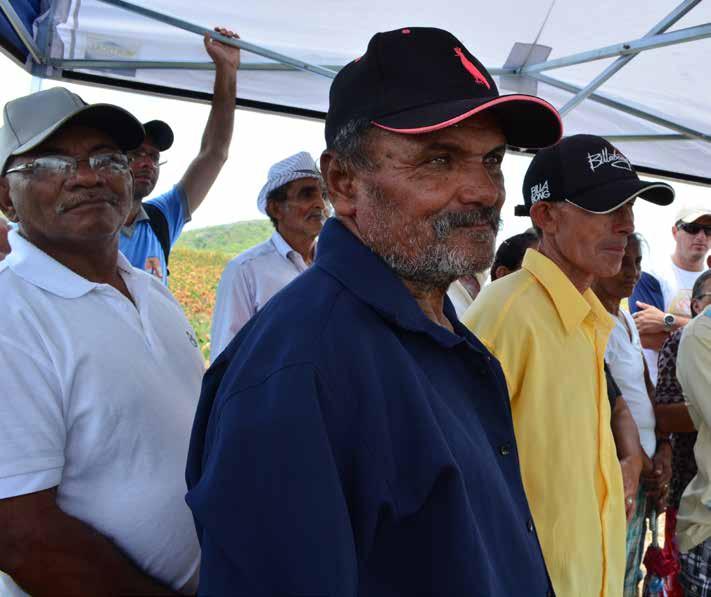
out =
[[[542,253],[528,249],[521,267],[546,289],[567,333],[580,326],[588,315],[608,332],[615,327],[595,293],[588,288],[581,294],[561,269]]]

